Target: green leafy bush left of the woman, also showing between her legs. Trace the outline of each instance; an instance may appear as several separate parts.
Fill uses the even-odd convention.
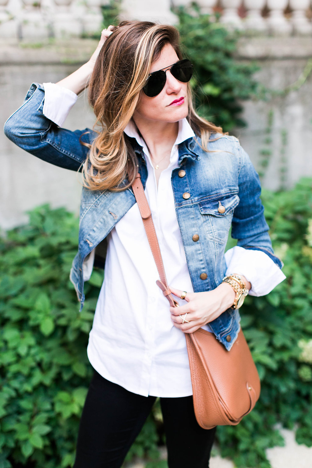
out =
[[[79,313],[68,279],[77,248],[78,219],[48,206],[0,238],[0,468],[73,465],[103,280],[94,269]],[[131,454],[157,459],[157,441],[151,417]]]

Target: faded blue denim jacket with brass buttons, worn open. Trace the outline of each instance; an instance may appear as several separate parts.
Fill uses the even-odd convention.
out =
[[[44,88],[32,84],[22,106],[7,120],[5,133],[16,145],[59,167],[79,170],[85,161],[94,133],[88,129],[71,132],[59,128],[43,115]],[[130,139],[138,157],[143,186],[147,168],[142,147]],[[224,277],[225,245],[230,228],[232,237],[245,249],[265,252],[279,267],[268,235],[261,205],[260,183],[249,157],[239,141],[227,135],[211,135],[209,152],[196,139],[179,145],[179,168],[172,172],[176,216],[194,292],[216,288]],[[179,175],[183,168],[185,175]],[[184,174],[184,173],[182,173]],[[116,223],[136,203],[133,192],[91,191],[84,188],[80,206],[79,249],[70,278],[80,310],[83,292],[83,261],[95,250],[95,264],[103,266],[105,238]],[[218,209],[220,206],[224,207]],[[193,234],[199,235],[193,241]],[[218,340],[231,349],[239,332],[239,312],[229,308],[210,327]]]

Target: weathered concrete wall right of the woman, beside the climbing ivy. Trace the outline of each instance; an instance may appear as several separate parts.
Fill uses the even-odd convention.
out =
[[[280,92],[268,93],[267,101],[244,102],[248,126],[235,132],[254,166],[264,173],[262,185],[279,190],[300,177],[312,177],[312,41],[243,38],[239,56],[257,59],[261,66],[257,79]]]

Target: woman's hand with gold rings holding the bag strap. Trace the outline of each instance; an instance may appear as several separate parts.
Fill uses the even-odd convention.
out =
[[[172,287],[170,291],[177,297],[181,297],[183,292]],[[193,333],[231,307],[234,299],[235,291],[228,283],[221,283],[212,291],[188,292],[185,296],[186,304],[180,307],[170,307],[171,320],[174,326],[184,333]],[[182,323],[183,318],[189,323]]]

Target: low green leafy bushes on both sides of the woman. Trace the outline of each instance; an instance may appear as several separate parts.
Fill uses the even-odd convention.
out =
[[[261,397],[238,426],[219,427],[223,456],[238,467],[268,468],[265,450],[282,444],[277,422],[312,445],[312,181],[263,193],[266,217],[287,276],[268,296],[247,297],[242,325],[261,376]],[[92,369],[87,362],[102,272],[94,270],[79,314],[68,280],[78,220],[39,207],[27,226],[0,240],[0,468],[73,463],[79,417]],[[128,454],[164,467],[156,405]]]

